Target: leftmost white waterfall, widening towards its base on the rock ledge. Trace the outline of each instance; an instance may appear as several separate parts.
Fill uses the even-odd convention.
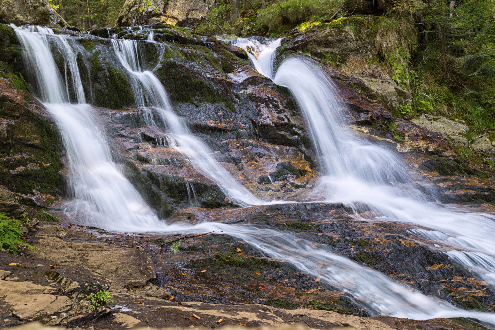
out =
[[[70,164],[69,181],[75,199],[69,215],[99,227],[116,223],[156,226],[158,218],[141,195],[113,162],[110,148],[97,128],[92,108],[84,104],[76,54],[67,36],[54,35],[51,29],[13,26],[23,46],[24,64],[33,75],[36,97],[55,118]],[[67,88],[50,51],[59,49],[74,82],[77,104],[69,103]],[[132,226],[131,226],[132,227]]]

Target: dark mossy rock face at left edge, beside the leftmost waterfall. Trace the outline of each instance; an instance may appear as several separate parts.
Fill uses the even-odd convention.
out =
[[[22,56],[12,28],[0,24],[0,184],[45,200],[61,192],[61,139],[43,106],[21,79]],[[36,190],[37,192],[33,192]],[[26,199],[24,203],[29,203]]]

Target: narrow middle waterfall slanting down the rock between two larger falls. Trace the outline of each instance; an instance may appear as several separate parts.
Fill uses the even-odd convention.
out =
[[[213,157],[208,147],[193,136],[186,123],[172,109],[168,93],[158,78],[148,70],[142,71],[138,56],[138,41],[111,40],[113,49],[122,66],[130,75],[131,87],[140,107],[155,109],[161,119],[158,125],[147,116],[148,125],[164,126],[165,131],[158,134],[168,137],[168,146],[185,155],[194,167],[206,178],[218,185],[229,198],[241,205],[267,204],[256,198],[243,185],[238,183]],[[272,201],[271,203],[280,203]]]

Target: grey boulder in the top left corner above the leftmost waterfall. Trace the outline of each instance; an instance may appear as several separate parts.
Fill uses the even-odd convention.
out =
[[[47,0],[1,0],[0,23],[67,26]]]

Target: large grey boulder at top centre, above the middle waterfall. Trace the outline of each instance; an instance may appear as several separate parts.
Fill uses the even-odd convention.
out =
[[[195,29],[215,0],[126,0],[116,26],[167,23]]]

